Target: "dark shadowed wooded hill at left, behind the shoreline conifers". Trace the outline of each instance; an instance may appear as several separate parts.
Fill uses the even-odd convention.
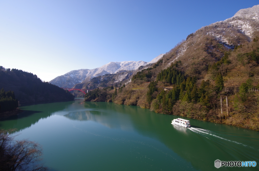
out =
[[[0,67],[0,87],[12,90],[19,104],[73,100],[74,96],[48,82],[42,82],[37,75],[18,69]]]

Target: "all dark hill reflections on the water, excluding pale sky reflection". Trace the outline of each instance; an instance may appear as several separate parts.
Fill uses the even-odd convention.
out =
[[[18,128],[20,130],[30,127],[40,119],[51,118],[52,115],[63,115],[68,118],[64,118],[64,120],[71,121],[74,125],[79,123],[78,121],[85,123],[85,125],[89,123],[87,121],[94,121],[108,128],[123,130],[125,134],[134,132],[134,134],[156,139],[181,158],[191,162],[194,168],[200,170],[216,169],[213,165],[216,159],[221,161],[256,161],[259,163],[259,138],[255,131],[243,131],[244,129],[236,127],[193,119],[188,120],[192,126],[196,127],[187,129],[171,124],[172,119],[178,118],[178,116],[162,115],[137,106],[106,102],[50,103],[24,106],[24,109],[31,113],[24,114],[17,119],[1,121],[0,126],[4,129]],[[38,113],[33,111],[38,111]],[[65,130],[66,127],[59,129]],[[109,131],[113,130],[109,129]],[[81,135],[78,133],[78,136]],[[235,170],[237,168],[228,169]]]

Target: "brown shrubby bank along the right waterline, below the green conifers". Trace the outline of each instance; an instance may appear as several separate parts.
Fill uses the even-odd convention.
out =
[[[146,83],[147,84],[147,83]],[[147,85],[141,85],[142,87],[147,87]],[[116,104],[124,104],[129,106],[139,106],[141,108],[148,108],[151,111],[161,114],[169,114],[169,115],[178,115],[184,116],[187,118],[197,119],[201,121],[208,121],[213,123],[221,123],[226,125],[232,125],[240,128],[251,129],[254,131],[259,131],[259,113],[256,112],[258,105],[254,104],[253,108],[249,108],[252,102],[256,102],[253,100],[256,98],[256,93],[251,92],[249,95],[249,101],[245,104],[238,102],[239,96],[237,95],[229,95],[228,102],[228,112],[226,110],[226,102],[222,107],[222,113],[220,111],[220,103],[217,100],[217,97],[211,98],[213,101],[213,105],[205,106],[202,103],[188,103],[183,100],[177,100],[174,105],[172,103],[167,102],[165,97],[168,96],[170,91],[160,91],[155,92],[155,96],[158,94],[162,94],[163,96],[160,99],[154,99],[152,103],[148,103],[147,101],[147,91],[148,88],[137,89],[136,85],[129,84],[125,88],[119,88],[118,91],[111,89],[95,89],[89,92],[85,98],[85,101],[91,102],[113,102]],[[169,101],[169,100],[168,100]],[[160,104],[158,103],[160,102]],[[171,104],[168,105],[168,104]],[[244,108],[241,113],[239,108]],[[249,110],[253,109],[253,110]]]

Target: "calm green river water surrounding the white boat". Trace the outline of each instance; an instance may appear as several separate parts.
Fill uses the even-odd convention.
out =
[[[0,121],[17,128],[16,139],[36,141],[52,171],[66,170],[258,170],[258,132],[178,118],[137,106],[106,102],[48,103],[21,107]],[[215,160],[256,161],[256,167],[214,167]]]

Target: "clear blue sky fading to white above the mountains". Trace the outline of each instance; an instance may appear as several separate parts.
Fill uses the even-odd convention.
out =
[[[258,4],[258,0],[0,0],[0,65],[50,81],[111,61],[149,62],[202,26]]]

